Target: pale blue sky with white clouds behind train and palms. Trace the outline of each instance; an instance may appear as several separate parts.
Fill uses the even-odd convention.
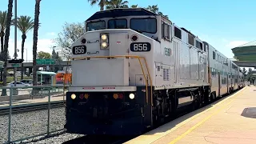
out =
[[[35,0],[18,0],[18,16],[34,18],[34,4]],[[234,56],[231,48],[256,39],[255,0],[130,0],[129,5],[133,4],[142,7],[158,4],[159,10],[169,15],[172,22],[209,42],[228,58]],[[0,10],[7,10],[7,5],[8,0],[1,0]],[[46,52],[51,52],[50,47],[55,46],[52,39],[61,32],[65,22],[84,22],[99,10],[98,6],[90,6],[87,0],[42,0],[40,8],[42,26],[38,31],[38,51]],[[33,30],[30,30],[25,44],[28,60],[32,60],[32,36]],[[21,33],[18,32],[18,49],[20,47]],[[13,56],[14,27],[11,28],[9,50]],[[26,53],[24,57],[26,60]]]

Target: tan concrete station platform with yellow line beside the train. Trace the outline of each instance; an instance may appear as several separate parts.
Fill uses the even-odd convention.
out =
[[[226,96],[126,144],[256,143],[256,86]]]

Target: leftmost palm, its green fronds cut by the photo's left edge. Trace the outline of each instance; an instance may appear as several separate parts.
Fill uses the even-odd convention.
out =
[[[3,41],[6,30],[6,19],[7,19],[7,11],[0,11],[0,39],[1,39],[1,52],[0,52],[0,60],[3,61]],[[0,74],[0,81],[2,82],[2,69]]]

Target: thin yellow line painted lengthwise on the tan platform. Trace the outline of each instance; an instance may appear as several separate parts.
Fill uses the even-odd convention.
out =
[[[246,88],[247,88],[247,87],[246,87]],[[236,97],[238,97],[238,94],[240,94],[240,93],[242,93],[243,91],[245,91],[246,88],[243,89],[243,90],[241,90],[241,91],[238,91],[238,93],[232,95],[230,98],[234,98],[234,99],[235,99]],[[208,119],[210,119],[210,118],[211,118],[212,116],[214,116],[215,114],[218,114],[221,110],[224,110],[224,109],[226,108],[226,106],[228,106],[231,102],[234,101],[234,99],[230,100],[230,102],[227,102],[226,105],[224,105],[224,106],[222,106],[221,108],[219,108],[218,110],[216,110],[216,111],[214,112],[214,114],[210,114],[208,117],[202,119],[201,122],[198,122],[196,125],[192,126],[189,130],[186,130],[185,133],[179,135],[177,138],[175,138],[173,141],[169,142],[168,144],[174,144],[174,143],[178,142],[179,140],[181,140],[182,138],[184,138],[187,134],[190,134],[194,129],[196,129],[198,126],[202,125],[202,123],[206,122]]]

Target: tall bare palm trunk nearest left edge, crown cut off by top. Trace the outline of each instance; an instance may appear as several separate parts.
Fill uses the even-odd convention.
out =
[[[8,42],[10,37],[10,24],[11,24],[11,17],[12,17],[12,10],[13,10],[13,0],[9,0],[8,10],[7,10],[7,17],[6,17],[6,34],[5,34],[5,42],[3,47],[3,60],[5,62],[3,68],[3,86],[6,86],[6,76],[7,76],[7,58],[8,58]],[[6,89],[2,90],[2,96],[6,95]]]

